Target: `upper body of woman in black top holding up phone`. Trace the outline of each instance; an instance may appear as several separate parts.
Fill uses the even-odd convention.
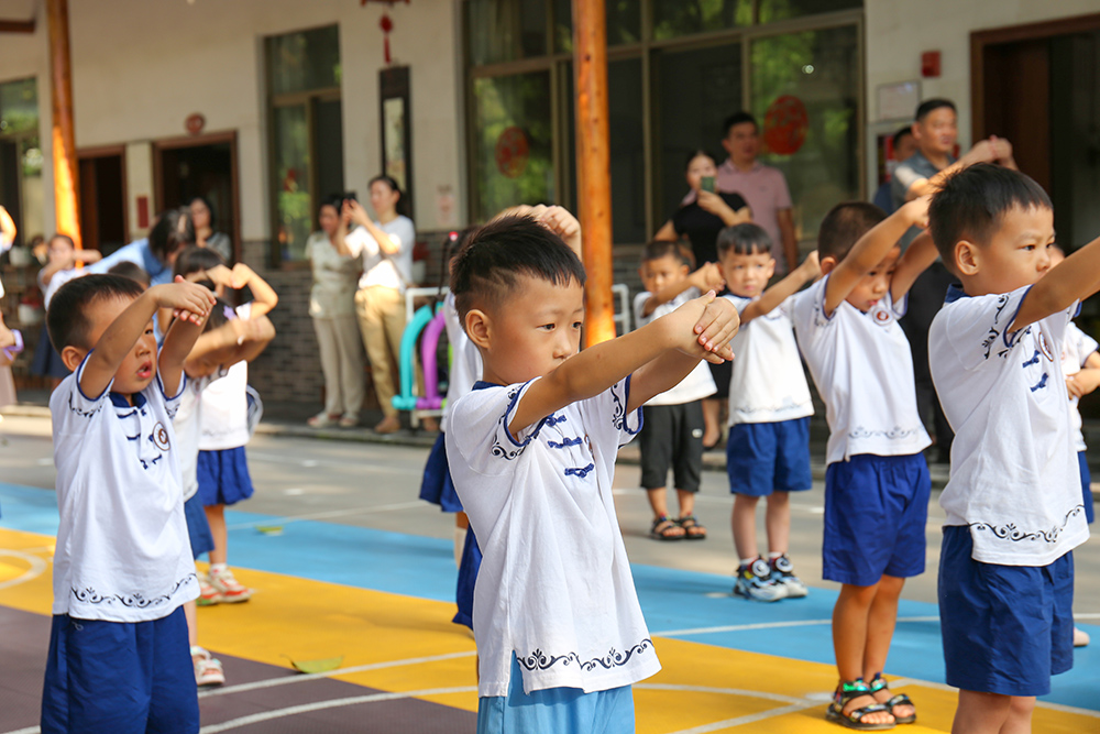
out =
[[[695,253],[695,264],[718,261],[718,232],[726,227],[752,221],[752,212],[739,194],[715,193],[714,177],[718,173],[714,158],[706,151],[692,151],[685,166],[689,194],[654,240],[678,240],[686,237]]]

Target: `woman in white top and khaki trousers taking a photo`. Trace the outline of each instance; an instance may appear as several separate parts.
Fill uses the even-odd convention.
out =
[[[345,199],[341,211],[344,223],[358,227],[346,233],[341,228],[332,241],[341,255],[363,259],[355,314],[371,360],[374,390],[385,415],[374,427],[380,434],[392,434],[402,427],[393,398],[405,332],[405,288],[413,281],[416,229],[413,220],[398,211],[400,204],[397,182],[389,176],[375,176],[371,179],[371,208],[376,218],[372,220],[359,201]]]

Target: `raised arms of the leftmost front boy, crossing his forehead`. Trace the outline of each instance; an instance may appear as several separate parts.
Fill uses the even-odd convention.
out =
[[[182,278],[180,278],[182,280]],[[107,327],[103,336],[99,338],[95,350],[84,365],[80,374],[80,392],[85,395],[99,396],[103,394],[107,386],[114,379],[114,373],[122,365],[127,354],[144,333],[146,328],[152,327],[153,314],[160,307],[172,308],[177,313],[177,321],[187,321],[196,329],[195,336],[202,330],[210,307],[213,306],[213,294],[201,285],[194,283],[169,283],[155,285],[142,295],[134,298],[125,310],[123,310],[111,326]],[[194,342],[194,337],[191,338]],[[165,348],[168,347],[165,337]],[[190,343],[187,344],[190,349]],[[172,354],[172,352],[169,352]],[[173,394],[175,391],[168,384],[169,375],[164,370],[164,350],[161,351],[158,368],[162,370],[161,381],[165,391]],[[179,370],[184,363],[184,351],[176,365],[176,376],[173,384],[178,387]]]

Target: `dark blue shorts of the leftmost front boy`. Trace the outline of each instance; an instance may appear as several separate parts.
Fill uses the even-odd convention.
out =
[[[152,622],[54,616],[42,734],[198,731],[198,690],[182,607]]]

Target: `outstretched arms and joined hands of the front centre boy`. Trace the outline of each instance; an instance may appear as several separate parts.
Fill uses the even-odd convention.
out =
[[[684,369],[675,380],[668,374],[653,380],[644,376],[641,385],[631,380],[627,408],[634,409],[680,382],[698,362],[703,351],[712,362],[730,359],[729,340],[736,332],[737,311],[725,298],[716,302],[712,291],[689,300],[636,331],[588,347],[536,381],[513,412],[508,430],[518,435],[554,410],[598,395],[666,352],[681,350],[694,354],[690,360],[672,360],[674,365]]]

